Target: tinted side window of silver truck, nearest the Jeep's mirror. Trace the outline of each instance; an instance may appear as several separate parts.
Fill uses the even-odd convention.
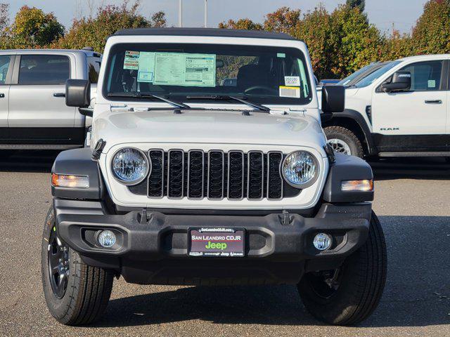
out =
[[[70,60],[63,55],[22,55],[18,84],[65,84],[70,78]]]

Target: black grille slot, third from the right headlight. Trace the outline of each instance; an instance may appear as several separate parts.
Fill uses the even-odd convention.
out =
[[[244,153],[230,151],[228,154],[228,198],[244,197]]]

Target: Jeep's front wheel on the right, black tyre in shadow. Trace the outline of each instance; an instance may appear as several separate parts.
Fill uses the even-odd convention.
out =
[[[297,288],[307,310],[323,322],[354,325],[371,315],[380,302],[387,274],[383,229],[372,212],[364,246],[338,270],[308,272]]]

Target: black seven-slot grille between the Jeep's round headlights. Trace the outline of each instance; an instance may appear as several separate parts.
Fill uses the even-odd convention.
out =
[[[284,155],[278,151],[151,149],[148,157],[150,176],[128,188],[149,198],[278,200],[301,191],[281,177]]]

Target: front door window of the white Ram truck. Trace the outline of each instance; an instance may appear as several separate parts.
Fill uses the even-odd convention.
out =
[[[442,61],[413,63],[401,71],[411,73],[411,91],[438,91],[441,88]]]

